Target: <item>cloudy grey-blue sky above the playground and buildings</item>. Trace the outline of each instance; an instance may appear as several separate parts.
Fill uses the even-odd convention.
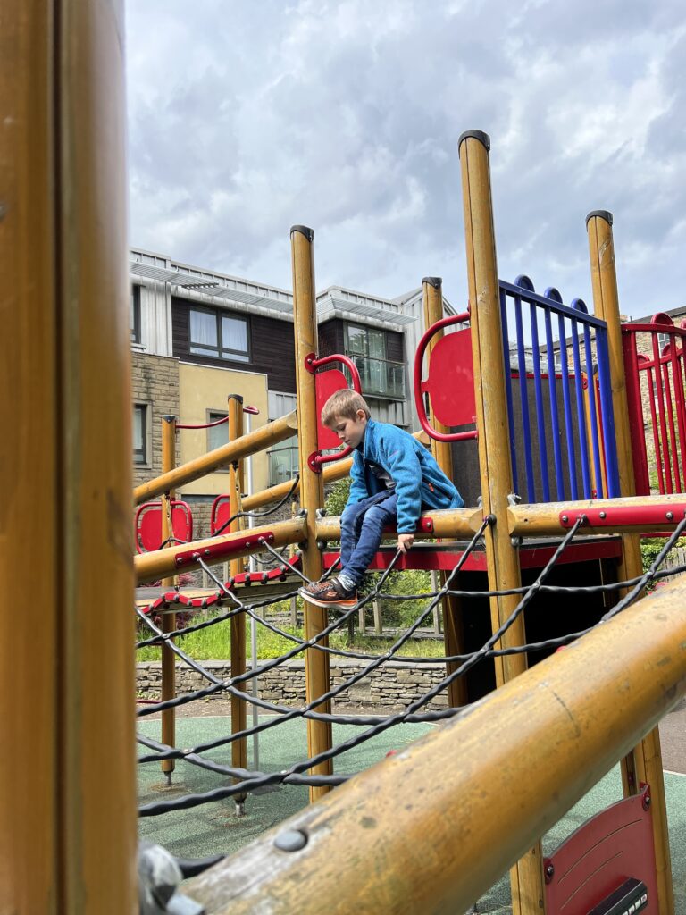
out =
[[[491,137],[498,271],[622,310],[686,305],[682,0],[126,0],[131,242],[290,288],[466,301],[457,138]]]

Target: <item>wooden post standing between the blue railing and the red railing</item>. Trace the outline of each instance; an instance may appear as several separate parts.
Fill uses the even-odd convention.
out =
[[[616,286],[615,242],[612,234],[612,214],[593,210],[586,217],[588,250],[591,261],[594,311],[596,318],[607,323],[612,406],[615,418],[617,468],[622,496],[636,495],[631,433],[628,423],[627,380],[624,371],[622,329],[619,316],[619,296]],[[641,575],[643,561],[637,534],[622,537],[621,580]],[[651,817],[655,835],[655,861],[658,870],[660,915],[673,915],[674,889],[671,880],[670,836],[667,823],[662,752],[659,730],[654,728],[641,740],[622,764],[622,782],[626,795],[635,794],[641,781],[650,785]]]

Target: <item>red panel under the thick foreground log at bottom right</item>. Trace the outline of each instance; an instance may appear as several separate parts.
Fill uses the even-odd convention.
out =
[[[640,915],[657,915],[655,847],[647,797],[649,789],[644,787],[641,794],[607,807],[545,859],[546,915],[585,915],[628,877],[642,880],[648,888],[648,903],[641,906]]]

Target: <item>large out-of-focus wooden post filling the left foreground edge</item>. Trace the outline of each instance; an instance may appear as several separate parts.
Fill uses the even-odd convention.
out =
[[[19,612],[0,639],[0,910],[17,915],[138,909],[122,6],[3,8],[0,574]]]

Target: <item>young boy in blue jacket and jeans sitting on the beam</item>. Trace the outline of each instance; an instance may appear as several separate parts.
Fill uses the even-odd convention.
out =
[[[350,495],[340,519],[341,570],[337,578],[313,582],[299,593],[317,607],[349,609],[358,602],[359,581],[386,525],[395,526],[398,549],[407,553],[421,511],[465,503],[431,452],[396,425],[376,423],[356,391],[333,393],[322,409],[322,423],[355,449]]]

